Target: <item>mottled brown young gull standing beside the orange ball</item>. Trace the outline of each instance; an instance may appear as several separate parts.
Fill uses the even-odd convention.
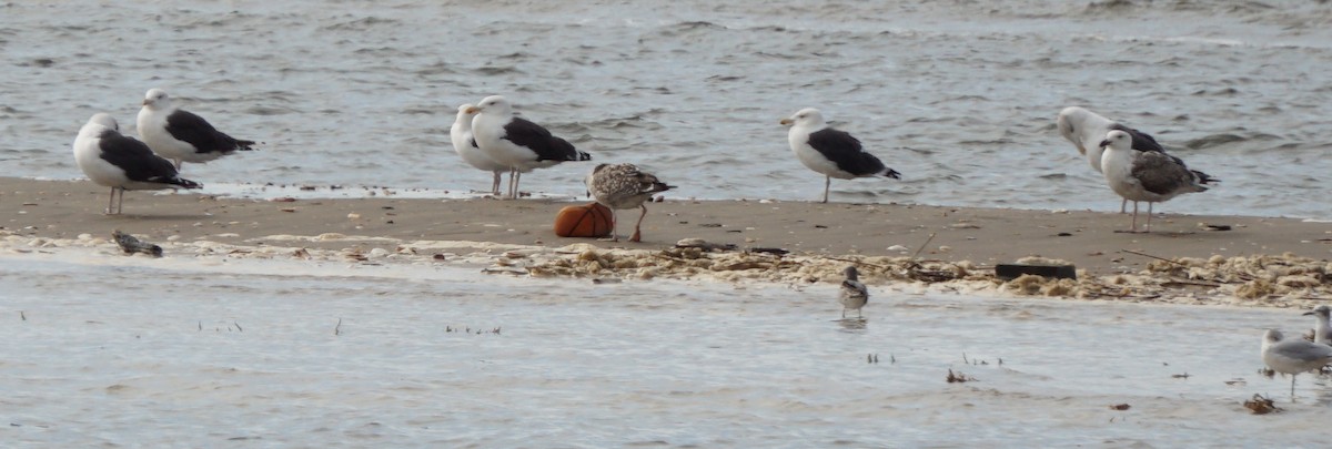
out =
[[[643,224],[643,217],[647,217],[645,202],[658,191],[675,189],[675,186],[667,186],[658,181],[651,173],[639,170],[633,163],[599,163],[587,174],[586,182],[587,193],[602,206],[610,207],[614,223],[610,230],[611,242],[619,242],[619,235],[615,234],[615,226],[619,224],[615,210],[634,207],[643,210],[642,214],[638,214],[638,223],[634,224],[634,235],[629,236],[630,242],[641,242],[639,227]]]

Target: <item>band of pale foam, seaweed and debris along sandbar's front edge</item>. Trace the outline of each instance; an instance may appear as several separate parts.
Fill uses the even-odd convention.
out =
[[[105,244],[105,239],[45,239],[5,235],[0,243],[12,251],[65,246]],[[161,255],[160,246],[116,232],[127,254]],[[835,284],[847,264],[855,266],[870,287],[898,292],[964,295],[1044,296],[1054,299],[1115,300],[1135,303],[1217,304],[1257,307],[1311,307],[1332,299],[1332,262],[1284,255],[1155,259],[1144,270],[1119,274],[1088,274],[1076,279],[1024,274],[1011,280],[995,275],[995,266],[971,260],[939,260],[912,256],[831,255],[805,251],[745,248],[702,239],[685,239],[665,248],[602,248],[589,243],[563,247],[461,240],[401,240],[377,236],[322,234],[317,236],[268,235],[230,244],[200,239],[168,238],[173,254],[228,258],[282,258],[318,262],[384,264],[469,264],[482,272],[534,278],[615,280],[718,280],[785,286]],[[1058,259],[1030,256],[1018,264],[1070,266]]]

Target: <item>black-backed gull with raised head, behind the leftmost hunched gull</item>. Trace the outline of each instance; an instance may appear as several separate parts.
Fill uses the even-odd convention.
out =
[[[202,117],[172,106],[163,89],[148,89],[139,110],[139,138],[153,153],[181,162],[204,163],[236,151],[253,150],[253,141],[241,141],[218,132]]]

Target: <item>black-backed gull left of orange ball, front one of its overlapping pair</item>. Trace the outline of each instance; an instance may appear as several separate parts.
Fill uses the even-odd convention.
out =
[[[509,169],[509,198],[518,198],[518,182],[523,173],[565,161],[591,161],[591,155],[551,135],[541,125],[514,117],[513,105],[502,96],[485,97],[468,113],[477,114],[472,120],[477,147]]]

